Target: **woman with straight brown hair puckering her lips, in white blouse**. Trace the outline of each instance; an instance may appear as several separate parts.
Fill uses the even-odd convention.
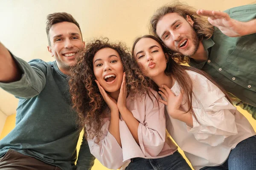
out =
[[[255,169],[256,133],[209,75],[175,62],[152,35],[137,38],[132,54],[159,88],[166,128],[195,170]]]

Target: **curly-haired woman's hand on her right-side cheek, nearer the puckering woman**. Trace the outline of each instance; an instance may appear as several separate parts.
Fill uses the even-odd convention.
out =
[[[123,79],[122,79],[122,85],[120,88],[120,93],[117,100],[117,107],[119,111],[122,111],[126,109],[126,97],[127,97],[127,89],[126,89],[126,74],[124,72]]]

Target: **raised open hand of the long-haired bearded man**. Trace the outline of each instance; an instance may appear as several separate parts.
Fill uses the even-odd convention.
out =
[[[208,17],[209,23],[219,28],[223,34],[229,37],[245,35],[244,23],[230,18],[225,12],[199,9],[197,14]]]

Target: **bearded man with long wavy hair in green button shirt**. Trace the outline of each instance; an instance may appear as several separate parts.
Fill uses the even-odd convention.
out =
[[[175,2],[150,23],[177,62],[210,74],[256,119],[256,4],[221,12]]]

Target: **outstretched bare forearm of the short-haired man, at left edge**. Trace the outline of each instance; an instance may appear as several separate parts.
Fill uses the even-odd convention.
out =
[[[15,82],[21,78],[21,74],[15,60],[0,42],[0,82]]]

